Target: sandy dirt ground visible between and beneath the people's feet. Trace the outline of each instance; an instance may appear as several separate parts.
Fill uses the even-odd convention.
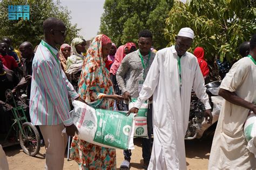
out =
[[[210,157],[210,150],[213,136],[210,135],[201,140],[186,140],[186,162],[187,169],[207,169],[208,159]],[[134,140],[136,144],[132,151],[131,169],[143,169],[142,146],[139,139]],[[44,169],[44,153],[45,148],[41,147],[40,154],[36,157],[30,157],[23,153],[19,145],[4,148],[6,157],[8,159],[10,169]],[[117,149],[117,168],[119,168],[123,161],[123,151]],[[75,161],[68,161],[65,156],[64,169],[78,169]]]

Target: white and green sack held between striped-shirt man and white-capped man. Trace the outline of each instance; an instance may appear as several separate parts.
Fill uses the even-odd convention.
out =
[[[126,112],[93,108],[77,100],[72,104],[79,139],[107,148],[134,149],[133,114],[127,117]]]

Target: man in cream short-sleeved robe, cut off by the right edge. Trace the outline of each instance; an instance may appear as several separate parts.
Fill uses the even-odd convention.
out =
[[[249,55],[238,60],[221,82],[219,95],[225,100],[212,142],[208,169],[256,169],[256,158],[246,148],[244,135],[249,111],[256,113],[255,60],[256,34],[250,40]]]

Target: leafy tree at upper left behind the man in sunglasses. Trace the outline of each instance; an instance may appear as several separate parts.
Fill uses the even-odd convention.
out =
[[[8,20],[8,5],[30,5],[30,19]],[[70,11],[52,0],[3,0],[0,2],[0,38],[9,37],[17,47],[24,41],[38,45],[43,39],[43,22],[48,17],[61,19],[66,25],[65,42],[78,36],[80,29],[71,24]]]

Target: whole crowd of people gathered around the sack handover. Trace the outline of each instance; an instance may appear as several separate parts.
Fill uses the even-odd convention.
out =
[[[176,43],[157,52],[152,48],[149,30],[138,33],[138,49],[134,42],[117,47],[100,34],[87,50],[82,38],[64,44],[66,27],[57,18],[46,19],[43,30],[44,39],[35,49],[30,42],[22,43],[18,50],[14,50],[9,38],[0,42],[0,102],[2,116],[7,111],[6,89],[17,95],[21,89],[28,92],[30,120],[39,127],[46,147],[45,169],[63,169],[67,135],[73,137],[71,158],[79,169],[116,169],[115,149],[76,137],[77,127],[69,115],[71,100],[127,114],[138,113],[143,102],[149,100],[149,138],[141,139],[143,167],[186,169],[184,137],[192,89],[205,106],[205,120],[208,124],[212,121],[205,88],[210,82],[205,50],[196,47],[193,54],[187,52],[193,43],[192,29],[180,29]],[[219,94],[225,102],[209,169],[256,168],[254,155],[246,149],[242,128],[248,112],[256,113],[256,35],[239,46],[239,53],[244,58],[232,67],[227,60],[217,59],[223,78]],[[129,110],[131,98],[138,100]],[[1,118],[1,124],[6,122]],[[62,133],[64,128],[66,134]],[[123,154],[120,169],[129,169],[132,151]]]

